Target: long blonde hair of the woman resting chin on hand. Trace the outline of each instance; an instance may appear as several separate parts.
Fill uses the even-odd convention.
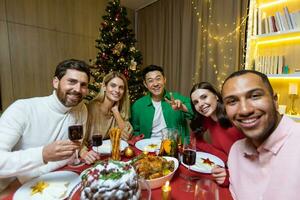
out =
[[[98,93],[98,95],[92,100],[93,101],[99,101],[100,103],[103,103],[104,99],[105,99],[105,91],[103,89],[104,86],[107,86],[108,83],[114,79],[114,78],[120,78],[123,80],[124,83],[124,93],[122,98],[120,99],[120,103],[119,103],[119,111],[120,114],[122,116],[122,118],[124,120],[128,120],[130,117],[130,101],[129,101],[129,93],[128,93],[128,84],[127,84],[127,80],[125,78],[125,76],[117,71],[112,71],[110,73],[108,73],[104,78],[103,78],[103,82],[100,88],[100,92]]]

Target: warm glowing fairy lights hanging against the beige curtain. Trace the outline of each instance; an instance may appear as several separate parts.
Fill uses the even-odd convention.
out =
[[[220,29],[224,27],[224,29],[228,29],[229,25],[228,23],[220,24],[220,23],[214,23],[213,22],[213,9],[212,9],[212,2],[211,0],[207,0],[208,3],[208,27],[204,27],[201,13],[199,12],[199,9],[197,7],[198,0],[192,0],[192,8],[194,9],[195,16],[197,17],[197,21],[199,23],[200,30],[202,32],[202,49],[200,50],[199,54],[200,57],[200,65],[197,64],[196,73],[193,77],[193,83],[195,81],[198,81],[197,79],[199,77],[199,73],[201,71],[202,66],[210,67],[214,74],[216,75],[216,80],[218,83],[220,83],[222,80],[224,80],[227,77],[227,72],[229,71],[229,66],[232,65],[233,62],[233,38],[237,38],[238,36],[241,37],[241,42],[244,43],[244,33],[242,28],[246,25],[248,15],[247,12],[245,16],[241,17],[240,22],[238,25],[236,25],[236,22],[233,22],[233,25],[235,28],[232,31],[229,31],[227,34],[222,35],[216,35],[211,32],[212,28],[217,27],[217,29]],[[231,46],[229,49],[226,48],[226,46]],[[218,53],[220,53],[222,60],[220,59],[215,60],[214,59],[214,49],[218,49]],[[224,50],[226,49],[226,51]],[[229,50],[230,54],[228,56],[222,56],[225,52],[227,52],[227,49]],[[205,62],[205,55],[208,58],[207,63]],[[243,55],[243,59],[246,58],[246,55]],[[241,67],[243,66],[243,63],[241,63]],[[222,71],[222,73],[221,73]],[[196,78],[197,77],[197,78]],[[220,83],[221,86],[222,83]]]

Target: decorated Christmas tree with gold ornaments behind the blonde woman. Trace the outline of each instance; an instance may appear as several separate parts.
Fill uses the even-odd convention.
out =
[[[99,92],[103,77],[111,71],[119,71],[128,81],[130,100],[144,95],[141,74],[142,55],[135,48],[136,40],[132,29],[128,26],[126,8],[120,6],[120,0],[108,2],[107,14],[102,17],[100,37],[96,40],[99,50],[91,63],[93,80],[89,85],[87,99],[93,99]]]

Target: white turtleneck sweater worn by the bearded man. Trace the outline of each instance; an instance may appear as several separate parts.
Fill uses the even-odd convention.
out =
[[[67,160],[44,164],[45,145],[68,138],[68,126],[83,124],[87,109],[83,102],[65,107],[56,92],[14,102],[0,118],[0,191],[7,177],[21,182],[62,167]]]

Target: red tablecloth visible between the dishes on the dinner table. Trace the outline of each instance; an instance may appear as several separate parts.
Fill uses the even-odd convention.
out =
[[[137,154],[140,153],[139,150],[135,149],[135,152]],[[126,160],[126,159],[125,159]],[[81,167],[63,167],[60,170],[70,170],[70,171],[75,171],[78,174],[80,174],[80,172],[82,172],[84,169],[88,168],[88,165],[84,165]],[[180,165],[178,170],[176,171],[174,177],[172,178],[170,185],[172,187],[172,199],[176,200],[190,200],[190,199],[194,199],[194,193],[193,192],[184,192],[182,190],[182,187],[184,186],[186,180],[183,179],[181,176],[179,176],[180,174],[184,174],[184,175],[188,175],[188,176],[193,176],[193,177],[200,177],[200,178],[209,178],[211,179],[211,175],[210,174],[203,174],[203,173],[197,173],[197,172],[193,172],[193,171],[188,171],[188,169],[186,169],[183,165]],[[10,194],[8,194],[8,196],[6,196],[3,200],[12,200],[13,194],[14,192],[17,190],[18,188],[15,188],[14,190],[11,191]],[[160,200],[161,199],[161,188],[157,188],[157,189],[153,189],[151,190],[152,192],[152,200]],[[231,194],[229,192],[228,188],[223,188],[223,187],[219,187],[219,197],[220,200],[232,200]],[[72,198],[73,200],[77,200],[79,199],[79,195],[75,194],[74,198]]]

